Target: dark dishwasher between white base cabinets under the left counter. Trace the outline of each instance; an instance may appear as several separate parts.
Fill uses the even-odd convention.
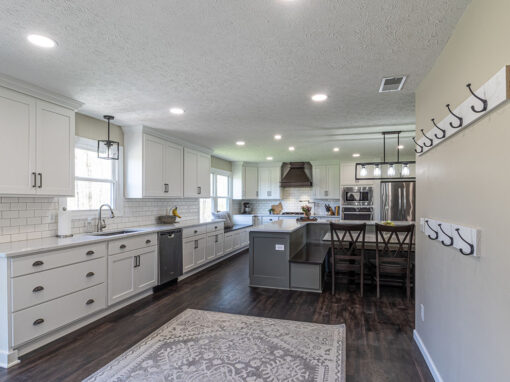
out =
[[[159,283],[164,284],[182,275],[182,230],[159,233]]]

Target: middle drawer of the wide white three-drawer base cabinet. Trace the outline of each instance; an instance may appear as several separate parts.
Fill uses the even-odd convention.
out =
[[[11,280],[16,312],[106,281],[106,258],[15,277]]]

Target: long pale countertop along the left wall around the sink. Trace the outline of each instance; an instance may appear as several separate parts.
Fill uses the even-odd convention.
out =
[[[211,220],[184,220],[175,224],[155,224],[140,227],[124,227],[111,230],[112,232],[120,230],[136,230],[122,235],[114,236],[94,236],[93,234],[78,234],[68,238],[47,237],[43,239],[13,241],[10,243],[0,244],[0,258],[16,257],[30,255],[38,252],[48,252],[52,250],[61,250],[66,248],[78,247],[80,245],[96,244],[105,241],[122,239],[137,235],[146,235],[148,233],[158,233],[162,231],[170,231],[173,229],[182,229],[187,227],[196,227],[204,224],[224,222],[224,219]],[[108,232],[108,230],[104,231]]]

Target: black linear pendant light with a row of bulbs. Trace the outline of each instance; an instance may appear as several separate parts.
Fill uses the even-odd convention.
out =
[[[410,165],[415,161],[400,161],[400,133],[401,131],[383,132],[383,161],[382,162],[364,162],[356,163],[355,178],[356,180],[415,180],[410,176]],[[397,136],[397,160],[395,162],[386,161],[386,136]],[[371,171],[370,171],[370,170]],[[370,177],[369,173],[373,176]],[[359,175],[358,175],[359,174]]]

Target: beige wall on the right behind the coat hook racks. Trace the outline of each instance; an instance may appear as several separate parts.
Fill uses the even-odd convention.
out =
[[[469,5],[416,92],[418,131],[510,64],[509,15],[508,0]],[[417,235],[416,330],[444,381],[510,378],[509,143],[507,103],[417,158],[417,217],[482,232],[480,258]]]

